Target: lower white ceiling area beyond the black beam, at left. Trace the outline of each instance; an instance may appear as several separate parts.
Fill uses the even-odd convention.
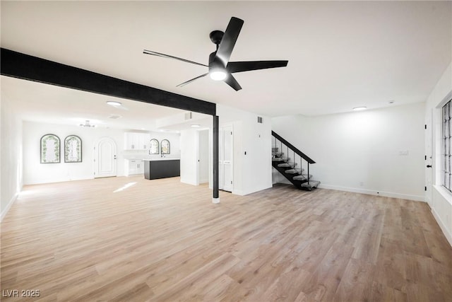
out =
[[[89,120],[97,127],[174,132],[191,124],[208,127],[212,121],[201,113],[186,121],[183,110],[8,76],[1,76],[1,95],[12,101],[23,120],[35,122],[79,125]],[[107,105],[107,101],[117,101],[121,106]]]

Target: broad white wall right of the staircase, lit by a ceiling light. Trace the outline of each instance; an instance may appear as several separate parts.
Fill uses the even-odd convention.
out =
[[[424,200],[424,105],[275,117],[272,127],[316,161],[319,187]]]

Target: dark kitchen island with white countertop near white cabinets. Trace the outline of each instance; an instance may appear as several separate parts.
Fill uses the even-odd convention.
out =
[[[144,178],[147,180],[174,178],[181,175],[181,161],[179,158],[151,158],[143,161]]]

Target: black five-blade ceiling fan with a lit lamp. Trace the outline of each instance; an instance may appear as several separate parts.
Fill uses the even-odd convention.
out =
[[[240,30],[244,21],[239,18],[232,17],[227,25],[225,32],[221,30],[214,30],[210,33],[210,40],[217,45],[217,50],[209,55],[209,64],[201,64],[179,57],[173,57],[169,54],[161,54],[160,52],[153,52],[150,50],[143,50],[143,54],[152,54],[157,57],[164,57],[169,59],[177,59],[179,61],[206,66],[208,73],[196,76],[196,78],[180,83],[177,87],[185,86],[197,79],[210,75],[210,78],[215,81],[225,81],[227,85],[239,91],[242,87],[237,80],[232,76],[234,72],[251,71],[257,69],[268,69],[275,67],[285,67],[288,61],[245,61],[245,62],[230,62],[232,50],[234,49],[237,37],[239,37]]]

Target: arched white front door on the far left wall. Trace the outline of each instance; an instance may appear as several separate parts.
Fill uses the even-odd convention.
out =
[[[114,140],[102,137],[94,146],[94,178],[116,176],[116,144]]]

